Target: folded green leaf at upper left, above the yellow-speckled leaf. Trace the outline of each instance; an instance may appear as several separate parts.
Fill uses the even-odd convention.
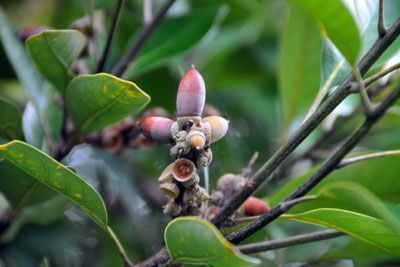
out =
[[[37,69],[62,93],[71,80],[69,68],[84,45],[85,37],[77,30],[45,30],[26,40]]]

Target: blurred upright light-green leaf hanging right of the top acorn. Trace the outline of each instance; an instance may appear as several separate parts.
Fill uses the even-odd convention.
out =
[[[285,124],[304,112],[321,80],[322,37],[303,10],[290,6],[280,48],[279,83]]]

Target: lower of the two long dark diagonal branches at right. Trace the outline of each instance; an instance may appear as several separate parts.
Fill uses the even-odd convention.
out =
[[[361,141],[361,139],[371,130],[379,119],[385,114],[387,109],[400,98],[400,85],[398,85],[385,100],[380,104],[369,117],[366,118],[360,128],[357,129],[347,141],[325,162],[324,165],[314,173],[306,182],[300,185],[284,200],[279,202],[275,207],[260,216],[259,219],[251,222],[245,227],[227,236],[227,240],[237,244],[248,238],[270,222],[274,221],[285,212],[285,202],[299,198],[310,192],[317,184],[319,184],[326,176],[334,171],[342,159]]]

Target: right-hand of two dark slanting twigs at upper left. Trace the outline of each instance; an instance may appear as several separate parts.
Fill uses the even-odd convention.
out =
[[[139,37],[133,43],[131,48],[121,57],[117,65],[112,70],[115,76],[122,76],[125,70],[129,67],[132,61],[136,58],[139,51],[143,48],[146,41],[149,39],[154,30],[160,25],[168,9],[172,6],[175,0],[168,0],[167,3],[158,11],[153,21],[140,32]]]

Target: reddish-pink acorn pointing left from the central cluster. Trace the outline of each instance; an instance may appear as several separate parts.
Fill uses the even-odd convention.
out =
[[[173,120],[163,117],[147,117],[139,119],[137,124],[143,134],[161,144],[169,144],[172,142],[171,126]]]

